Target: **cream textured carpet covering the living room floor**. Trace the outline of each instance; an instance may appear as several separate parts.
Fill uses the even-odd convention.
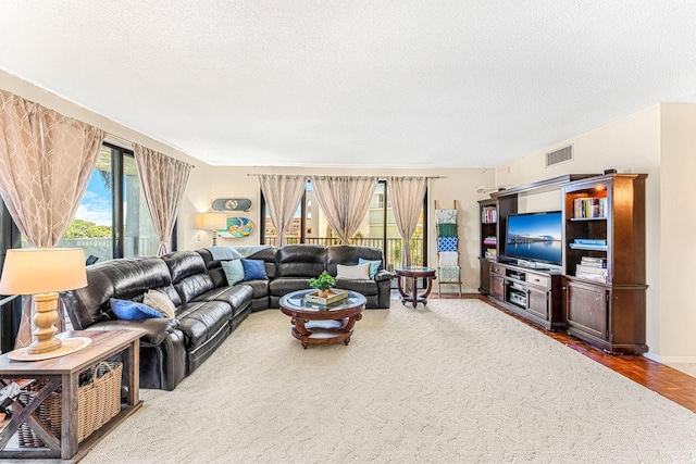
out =
[[[696,414],[477,300],[303,350],[252,314],[84,463],[693,463]]]

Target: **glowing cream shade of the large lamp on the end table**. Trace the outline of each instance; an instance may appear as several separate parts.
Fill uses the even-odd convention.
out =
[[[87,286],[79,248],[11,249],[4,256],[0,294],[36,294]]]

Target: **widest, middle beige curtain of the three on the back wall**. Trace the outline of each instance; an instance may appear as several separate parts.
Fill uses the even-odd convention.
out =
[[[310,181],[328,225],[336,230],[341,243],[348,244],[370,208],[377,178],[312,176]]]

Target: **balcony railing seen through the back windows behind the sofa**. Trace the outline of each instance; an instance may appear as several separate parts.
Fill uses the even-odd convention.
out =
[[[300,242],[299,237],[285,237],[287,244],[296,244]],[[327,247],[339,244],[340,239],[338,237],[306,237],[304,243],[311,244],[324,244]],[[401,244],[403,240],[400,238],[387,238],[386,247],[384,246],[384,239],[382,238],[351,238],[350,244],[358,244],[361,247],[374,247],[384,250],[385,266],[388,271],[394,271],[394,267],[401,265]],[[271,247],[277,247],[277,237],[266,236],[265,244]],[[423,264],[423,239],[412,238],[409,242],[411,248],[411,265],[422,266]]]

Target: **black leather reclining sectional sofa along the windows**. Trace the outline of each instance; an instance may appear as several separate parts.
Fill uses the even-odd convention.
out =
[[[310,288],[309,278],[337,264],[359,259],[381,261],[372,279],[338,279],[337,287],[366,298],[366,308],[389,308],[393,275],[384,269],[378,248],[294,244],[265,248],[248,255],[262,260],[268,279],[228,286],[214,250],[177,251],[161,258],[105,261],[87,267],[85,288],[61,293],[75,329],[138,328],[140,386],[173,390],[202,364],[252,311],[278,308],[290,291]],[[119,319],[112,298],[141,302],[148,290],[165,293],[176,306],[176,318]]]

